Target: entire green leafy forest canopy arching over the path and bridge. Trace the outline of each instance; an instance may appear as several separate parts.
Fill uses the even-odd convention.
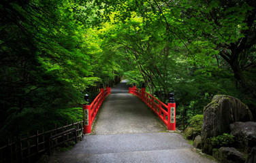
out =
[[[120,77],[145,83],[164,103],[174,92],[183,124],[215,94],[239,98],[256,115],[255,7],[253,0],[1,1],[1,139],[81,120],[84,94]]]

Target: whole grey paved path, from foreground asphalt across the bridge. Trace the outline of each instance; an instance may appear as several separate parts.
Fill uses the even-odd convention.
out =
[[[166,127],[140,99],[128,94],[125,81],[112,88],[91,134],[53,162],[214,162]]]

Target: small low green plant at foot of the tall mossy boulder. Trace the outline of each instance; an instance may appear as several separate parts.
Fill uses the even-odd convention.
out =
[[[210,141],[212,145],[217,147],[228,146],[234,143],[234,136],[224,133],[224,134],[218,135],[217,137],[210,138]]]

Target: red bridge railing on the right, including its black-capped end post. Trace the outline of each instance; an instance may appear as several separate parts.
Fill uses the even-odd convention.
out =
[[[155,96],[145,91],[144,85],[142,89],[129,87],[129,93],[141,98],[141,100],[154,111],[159,119],[167,126],[167,130],[176,130],[176,103],[174,102],[174,94],[170,94],[168,105],[159,101]]]

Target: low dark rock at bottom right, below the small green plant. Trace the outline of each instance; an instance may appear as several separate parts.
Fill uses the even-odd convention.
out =
[[[234,147],[221,147],[214,150],[213,157],[221,163],[244,163],[245,161],[242,153]]]

